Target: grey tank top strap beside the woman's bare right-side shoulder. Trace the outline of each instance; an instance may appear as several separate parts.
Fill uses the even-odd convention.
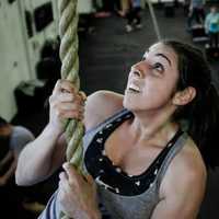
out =
[[[188,135],[187,132],[183,132],[178,139],[176,140],[176,142],[174,143],[174,146],[171,148],[171,150],[169,151],[169,153],[166,154],[165,159],[163,160],[163,163],[158,172],[158,176],[155,180],[155,183],[158,185],[158,187],[160,187],[160,184],[163,180],[163,176],[165,175],[165,172],[171,163],[171,161],[175,158],[175,155],[180,152],[180,150],[184,147],[185,141],[187,140]]]

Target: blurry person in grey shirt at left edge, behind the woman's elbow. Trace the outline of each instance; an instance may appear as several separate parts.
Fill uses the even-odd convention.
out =
[[[13,126],[0,117],[0,206],[8,218],[31,217],[23,206],[24,194],[15,185],[14,173],[18,158],[33,134],[23,126]]]

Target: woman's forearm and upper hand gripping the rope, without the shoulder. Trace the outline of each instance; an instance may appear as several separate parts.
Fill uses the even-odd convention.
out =
[[[43,181],[55,172],[65,160],[66,118],[82,119],[84,104],[72,83],[59,80],[49,97],[49,123],[43,132],[21,152],[15,172],[19,185]]]

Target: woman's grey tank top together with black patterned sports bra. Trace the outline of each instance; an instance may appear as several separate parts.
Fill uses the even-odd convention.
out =
[[[83,137],[84,169],[95,178],[103,218],[150,219],[160,201],[160,184],[166,169],[187,139],[187,134],[178,130],[143,173],[128,175],[105,155],[104,142],[112,131],[131,116],[124,108],[88,130]],[[56,196],[57,192],[39,219],[59,218],[60,206]]]

